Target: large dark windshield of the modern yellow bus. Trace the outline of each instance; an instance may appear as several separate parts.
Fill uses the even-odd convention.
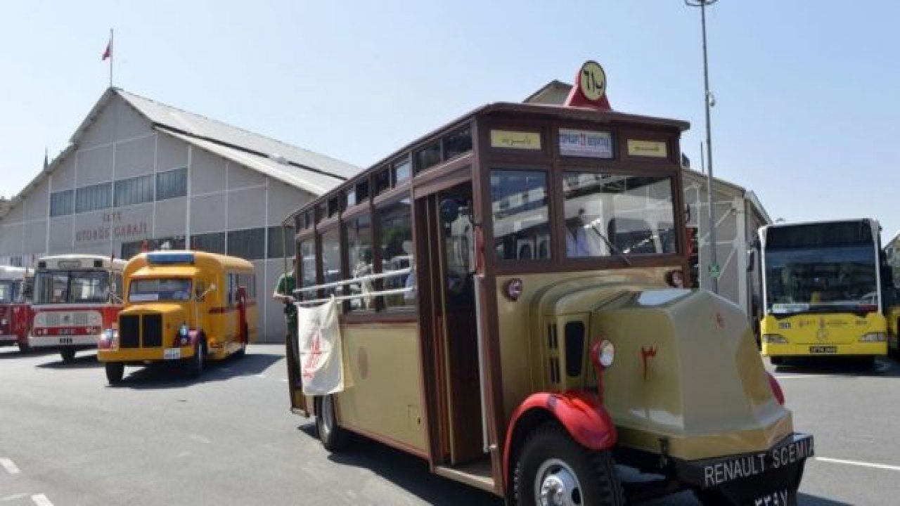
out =
[[[770,249],[767,310],[857,311],[878,305],[876,267],[871,245]]]

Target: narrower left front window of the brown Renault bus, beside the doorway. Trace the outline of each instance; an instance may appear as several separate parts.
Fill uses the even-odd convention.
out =
[[[491,213],[499,260],[550,258],[545,172],[492,170]]]

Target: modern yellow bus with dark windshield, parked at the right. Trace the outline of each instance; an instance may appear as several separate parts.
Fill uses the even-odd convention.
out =
[[[871,219],[775,223],[759,230],[762,354],[887,354],[887,290],[880,226]],[[887,285],[886,285],[887,283]],[[887,290],[886,290],[887,289]]]

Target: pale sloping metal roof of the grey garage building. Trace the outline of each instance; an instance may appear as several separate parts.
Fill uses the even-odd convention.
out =
[[[259,135],[252,131],[246,131],[233,127],[229,124],[211,120],[205,116],[195,113],[188,113],[176,107],[166,104],[160,104],[154,100],[150,100],[140,95],[134,95],[130,92],[119,88],[113,88],[115,93],[122,97],[128,104],[138,110],[139,113],[147,117],[149,122],[157,126],[161,126],[166,130],[181,133],[184,138],[193,138],[197,140],[205,140],[207,145],[220,144],[226,149],[217,151],[221,156],[230,158],[230,155],[244,149],[254,152],[257,155],[257,163],[251,168],[257,170],[271,169],[274,174],[284,173],[285,165],[282,160],[293,162],[296,174],[293,180],[301,180],[299,178],[311,176],[312,172],[320,172],[320,176],[330,174],[330,184],[324,179],[312,182],[313,186],[320,186],[326,189],[337,185],[340,181],[349,177],[356,176],[360,168],[354,165],[342,162],[335,158],[330,158],[319,153],[314,153],[307,149],[298,148],[281,142],[279,140],[270,139],[266,136]],[[187,140],[187,139],[184,139]],[[195,145],[199,143],[188,140]],[[206,149],[206,148],[204,148]],[[262,155],[262,156],[259,156]],[[244,163],[235,159],[238,163]],[[300,166],[300,167],[297,167]],[[292,171],[288,168],[287,173]],[[266,175],[268,171],[266,170]],[[288,183],[289,181],[285,181]],[[293,184],[293,183],[291,183]]]

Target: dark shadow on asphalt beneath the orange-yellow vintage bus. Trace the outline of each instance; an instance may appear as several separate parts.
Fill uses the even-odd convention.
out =
[[[238,376],[259,375],[282,357],[269,353],[247,353],[244,357],[231,356],[222,361],[207,361],[199,378],[186,375],[180,364],[152,364],[125,367],[125,376],[113,388],[134,390],[162,390],[182,388],[190,384],[227,381]]]

